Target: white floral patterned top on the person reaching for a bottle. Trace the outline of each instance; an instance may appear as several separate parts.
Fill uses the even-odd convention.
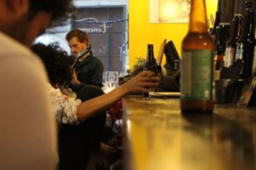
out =
[[[80,105],[81,100],[75,99],[68,95],[62,94],[60,89],[55,89],[51,84],[48,84],[54,113],[56,118],[61,123],[77,124],[77,106]]]

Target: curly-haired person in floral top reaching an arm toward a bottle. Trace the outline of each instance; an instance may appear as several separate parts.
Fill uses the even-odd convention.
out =
[[[90,154],[100,149],[106,109],[130,92],[148,92],[158,86],[151,71],[143,71],[125,84],[104,94],[100,87],[84,85],[77,98],[63,94],[59,87],[72,79],[70,58],[55,44],[34,44],[32,51],[45,63],[54,113],[62,123],[59,130],[59,169],[85,169]]]

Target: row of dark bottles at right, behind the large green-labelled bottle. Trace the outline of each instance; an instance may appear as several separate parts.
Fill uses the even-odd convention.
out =
[[[218,0],[215,25],[213,79],[250,80],[256,76],[254,0]],[[216,88],[216,87],[215,87]]]

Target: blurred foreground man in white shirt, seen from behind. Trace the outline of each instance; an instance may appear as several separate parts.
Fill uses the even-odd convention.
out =
[[[0,169],[56,169],[57,127],[48,78],[28,47],[51,20],[71,9],[71,0],[0,1]]]

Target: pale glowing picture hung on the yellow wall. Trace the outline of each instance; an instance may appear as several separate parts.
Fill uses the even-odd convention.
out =
[[[150,23],[188,23],[190,0],[149,0]]]

